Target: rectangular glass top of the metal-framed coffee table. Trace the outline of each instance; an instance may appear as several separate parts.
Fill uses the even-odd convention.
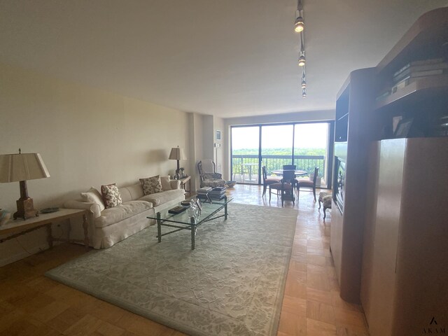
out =
[[[211,203],[202,202],[201,214],[200,214],[199,218],[197,218],[197,221],[195,221],[194,224],[200,225],[200,224],[206,222],[207,220],[209,220],[209,218],[211,218],[211,216],[214,216],[214,214],[216,214],[218,211],[223,209],[232,200],[233,200],[233,198],[226,197],[226,198],[223,198],[223,200],[219,200],[219,201],[212,200]],[[181,203],[179,203],[177,205],[181,205]],[[169,209],[172,209],[174,207],[176,207],[176,206],[173,205]],[[188,207],[186,207],[186,208],[188,208]],[[169,209],[160,211],[160,220],[161,221],[179,223],[179,224],[185,224],[185,225],[192,225],[191,218],[188,216],[187,210],[182,211],[180,214],[169,214],[169,212],[168,212]],[[148,216],[147,218],[158,219],[158,213],[154,214],[153,216],[152,215]]]

